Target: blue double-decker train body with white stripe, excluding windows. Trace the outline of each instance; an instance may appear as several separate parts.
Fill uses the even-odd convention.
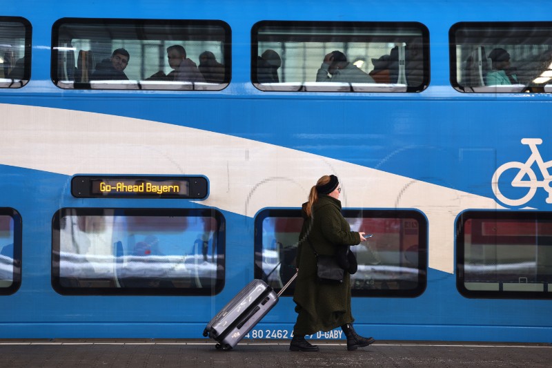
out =
[[[269,255],[270,249],[255,242],[259,214],[270,209],[298,213],[318,177],[335,173],[344,189],[344,209],[359,211],[361,217],[380,209],[419,213],[422,229],[417,233],[426,237],[425,247],[417,244],[418,266],[426,264],[418,270],[423,274],[417,286],[420,292],[404,297],[387,291],[371,295],[367,289],[354,296],[359,332],[384,340],[550,342],[552,262],[544,260],[550,257],[546,250],[550,245],[540,245],[545,249],[538,251],[536,267],[548,276],[541,282],[543,289],[534,293],[524,294],[523,289],[517,293],[520,289],[514,288],[515,293],[502,295],[506,291],[502,284],[491,290],[496,293],[470,293],[479,281],[464,284],[468,268],[457,261],[459,249],[464,250],[458,243],[462,221],[473,213],[493,217],[495,212],[538,212],[544,219],[544,235],[538,241],[549,240],[546,216],[552,204],[546,202],[550,184],[546,177],[531,198],[513,205],[497,198],[491,182],[503,164],[529,159],[530,148],[522,139],[542,139],[538,150],[544,164],[552,159],[552,95],[535,90],[460,92],[451,85],[455,48],[449,34],[460,22],[541,22],[549,27],[546,22],[551,19],[542,11],[547,3],[506,1],[500,9],[493,1],[328,5],[144,0],[75,6],[60,0],[55,5],[19,1],[3,6],[3,21],[23,17],[32,26],[32,59],[25,86],[0,88],[0,207],[21,216],[21,282],[0,296],[0,338],[199,338],[210,318],[248,281],[262,275],[255,270],[256,262],[261,262],[255,252],[260,249]],[[186,91],[60,88],[52,82],[52,47],[59,41],[52,35],[52,25],[66,18],[77,23],[80,19],[226,23],[231,30],[228,84],[219,90]],[[422,25],[428,30],[424,54],[428,84],[404,93],[262,90],[252,83],[251,71],[252,29],[262,21]],[[130,55],[129,67],[132,62]],[[543,180],[536,166],[533,171]],[[72,177],[88,174],[201,175],[208,180],[209,195],[200,200],[75,197]],[[518,188],[510,189],[512,193],[502,189],[504,197],[515,197]],[[144,294],[110,294],[99,287],[79,295],[73,292],[78,287],[63,284],[66,292],[60,293],[55,283],[62,281],[56,275],[64,269],[52,261],[55,251],[63,252],[63,244],[56,249],[52,240],[52,233],[60,231],[52,225],[60,209],[217,211],[217,218],[224,219],[217,225],[224,233],[224,253],[216,255],[217,267],[224,269],[217,284],[220,291],[170,295],[148,289]],[[476,220],[466,221],[475,228]],[[11,229],[17,232],[14,228],[17,223]],[[403,239],[407,233],[400,231]],[[463,235],[462,240],[467,241]],[[214,260],[213,244],[209,240],[206,247]],[[198,249],[188,251],[190,257],[199,255]],[[471,252],[466,250],[462,257],[475,250]],[[197,263],[190,265],[197,268]],[[290,338],[294,307],[291,297],[282,298],[250,337]],[[315,337],[342,338],[339,331]]]

